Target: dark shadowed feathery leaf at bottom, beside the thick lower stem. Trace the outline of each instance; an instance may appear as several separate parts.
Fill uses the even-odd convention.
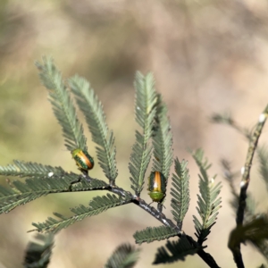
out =
[[[153,264],[171,264],[185,260],[187,255],[194,255],[202,247],[193,247],[184,236],[177,241],[167,241],[165,247],[159,247]]]

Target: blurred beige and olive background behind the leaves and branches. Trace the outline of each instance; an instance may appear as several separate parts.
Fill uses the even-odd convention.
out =
[[[217,173],[216,181],[223,185],[222,209],[207,252],[220,266],[235,267],[227,248],[235,216],[220,160],[227,158],[239,171],[247,141],[227,126],[212,124],[209,116],[232,113],[240,125],[252,127],[267,104],[267,8],[265,0],[1,0],[0,164],[19,159],[77,171],[34,65],[42,55],[51,55],[65,79],[79,73],[95,88],[116,138],[117,183],[130,189],[128,163],[137,128],[133,79],[137,70],[154,71],[156,88],[169,108],[174,155],[189,162],[191,203],[183,230],[194,236],[198,193],[197,166],[186,148],[203,147],[213,163],[211,175]],[[88,130],[87,135],[89,153],[96,157]],[[261,138],[265,141],[267,128]],[[267,192],[257,167],[255,161],[248,191],[264,211]],[[91,175],[105,180],[98,164]],[[4,177],[1,183],[6,185]],[[2,214],[0,265],[22,267],[25,247],[33,238],[27,233],[31,222],[44,222],[53,212],[71,215],[70,207],[88,205],[97,194],[104,193],[50,195]],[[149,202],[146,189],[142,197]],[[166,214],[172,218],[169,204],[167,197]],[[102,267],[115,247],[134,244],[132,234],[147,226],[159,222],[135,205],[75,223],[56,236],[49,267]],[[156,248],[163,244],[140,246],[137,267],[152,267]],[[242,254],[247,267],[265,263],[250,245],[242,246]],[[194,255],[180,267],[207,266]]]

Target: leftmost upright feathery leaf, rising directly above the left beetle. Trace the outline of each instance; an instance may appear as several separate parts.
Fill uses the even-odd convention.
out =
[[[70,151],[76,148],[87,150],[87,139],[71,103],[70,93],[64,86],[61,72],[56,69],[51,58],[44,57],[43,63],[43,65],[36,63],[40,71],[39,77],[48,89],[49,101],[53,106],[54,115],[63,128],[65,146]]]

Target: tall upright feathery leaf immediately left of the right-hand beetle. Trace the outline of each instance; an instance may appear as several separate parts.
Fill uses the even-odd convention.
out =
[[[134,86],[136,89],[136,121],[143,129],[143,134],[136,131],[136,142],[132,147],[129,168],[132,175],[130,177],[131,188],[139,196],[151,158],[152,146],[148,145],[148,140],[153,133],[157,96],[155,93],[155,80],[151,72],[146,76],[137,72]]]

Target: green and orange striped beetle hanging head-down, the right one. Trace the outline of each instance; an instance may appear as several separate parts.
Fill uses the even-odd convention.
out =
[[[161,172],[151,172],[148,178],[148,195],[154,202],[161,202],[165,197],[165,178]]]

